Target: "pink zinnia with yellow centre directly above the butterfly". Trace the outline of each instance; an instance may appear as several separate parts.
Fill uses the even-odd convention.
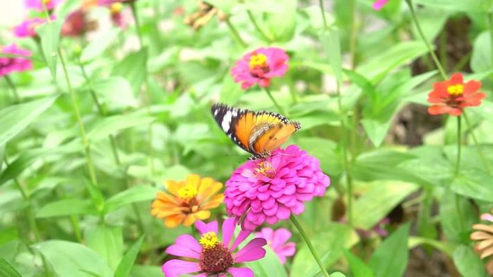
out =
[[[254,84],[268,87],[270,79],[282,77],[288,70],[289,57],[281,48],[258,48],[243,55],[231,69],[234,82],[241,82],[242,89],[249,89]]]

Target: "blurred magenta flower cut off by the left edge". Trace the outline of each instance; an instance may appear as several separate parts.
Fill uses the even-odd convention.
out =
[[[0,46],[0,53],[10,55],[23,55],[31,57],[31,51],[18,48],[15,44]],[[0,77],[12,72],[21,72],[33,69],[33,62],[23,57],[0,57]]]

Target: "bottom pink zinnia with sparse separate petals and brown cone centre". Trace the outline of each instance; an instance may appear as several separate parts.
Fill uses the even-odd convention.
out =
[[[263,238],[250,240],[238,252],[234,249],[250,235],[250,231],[240,231],[236,239],[234,235],[234,218],[228,218],[223,222],[223,240],[218,238],[218,222],[205,224],[198,221],[196,229],[200,232],[200,240],[191,235],[180,235],[175,244],[166,249],[166,253],[179,256],[188,260],[168,260],[162,266],[166,277],[178,277],[182,274],[196,274],[196,277],[226,276],[228,273],[234,277],[252,277],[252,269],[248,267],[233,267],[242,262],[252,262],[266,256],[266,250],[262,247],[267,244]]]

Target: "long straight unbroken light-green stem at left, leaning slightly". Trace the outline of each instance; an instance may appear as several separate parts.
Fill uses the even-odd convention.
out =
[[[76,95],[76,92],[73,91],[72,84],[71,84],[70,78],[69,78],[69,73],[67,71],[67,64],[65,64],[65,60],[64,60],[64,57],[62,55],[62,51],[58,50],[58,55],[60,56],[60,62],[62,63],[62,69],[63,69],[63,73],[65,75],[65,82],[67,82],[67,87],[69,89],[73,111],[76,114],[76,119],[77,119],[77,123],[79,126],[80,136],[82,137],[84,150],[85,150],[85,158],[86,158],[86,162],[87,162],[87,169],[89,171],[89,177],[91,178],[92,184],[94,186],[98,186],[98,179],[96,177],[96,170],[94,169],[94,163],[92,161],[91,146],[89,145],[89,140],[87,139],[87,135],[85,133],[85,127],[84,127],[82,117],[80,116],[80,110],[79,110],[79,106],[77,103],[77,95]]]

